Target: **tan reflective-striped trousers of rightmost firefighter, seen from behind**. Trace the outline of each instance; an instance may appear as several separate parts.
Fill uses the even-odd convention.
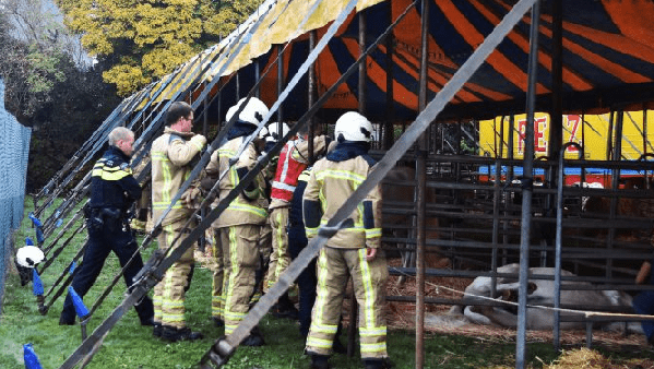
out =
[[[318,296],[311,313],[307,352],[330,355],[338,328],[343,297],[352,276],[359,307],[359,337],[362,359],[385,358],[385,285],[389,277],[385,255],[379,250],[366,261],[366,249],[323,247],[318,257]]]

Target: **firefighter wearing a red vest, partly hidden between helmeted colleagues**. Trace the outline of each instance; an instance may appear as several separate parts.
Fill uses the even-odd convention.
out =
[[[277,282],[290,262],[287,233],[288,211],[298,177],[310,164],[309,127],[302,127],[298,133],[297,140],[288,140],[282,148],[272,184],[269,211],[270,225],[273,229],[273,251],[266,277],[269,288]],[[322,155],[329,143],[330,140],[324,134],[313,138],[313,156]],[[288,298],[288,293],[280,297],[278,302],[273,307],[273,314],[292,319],[298,318],[298,311]]]

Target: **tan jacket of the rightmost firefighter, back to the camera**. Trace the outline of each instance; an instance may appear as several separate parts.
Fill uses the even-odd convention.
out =
[[[371,170],[370,164],[357,156],[344,162],[320,159],[313,166],[304,194],[304,221],[307,237],[314,237],[345,200],[361,184]],[[381,188],[376,186],[350,215],[352,228],[342,229],[326,246],[344,249],[381,246]]]

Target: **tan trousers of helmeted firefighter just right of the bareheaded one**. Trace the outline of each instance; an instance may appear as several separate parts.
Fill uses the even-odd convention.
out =
[[[225,266],[225,335],[231,334],[248,313],[259,265],[260,233],[261,226],[252,224],[221,228]]]

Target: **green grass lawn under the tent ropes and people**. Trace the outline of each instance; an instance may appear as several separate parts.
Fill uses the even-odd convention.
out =
[[[16,233],[20,247],[25,238],[35,238],[26,217],[32,210],[32,200],[25,201],[25,219]],[[45,218],[45,217],[44,217]],[[66,222],[64,222],[66,224]],[[57,234],[57,233],[56,233]],[[56,235],[55,234],[55,235]],[[46,291],[72,260],[81,247],[85,233],[75,236],[51,266],[44,271],[41,279]],[[50,236],[53,239],[53,236]],[[66,237],[58,242],[63,242]],[[46,242],[48,246],[48,242]],[[154,246],[153,246],[154,247]],[[152,247],[144,250],[147,260]],[[88,308],[103,293],[116,273],[118,260],[111,254],[105,264],[95,286],[85,297]],[[195,342],[168,344],[152,336],[152,330],[142,328],[133,309],[114,326],[104,341],[102,348],[86,368],[197,368],[204,353],[223,329],[213,326],[211,316],[211,273],[197,267],[187,297],[187,323],[204,334]],[[87,332],[93,330],[120,303],[124,294],[124,284],[119,282],[102,307],[92,317]],[[46,298],[46,302],[51,297]],[[58,298],[46,316],[38,312],[36,298],[32,294],[32,284],[21,286],[19,276],[7,277],[3,311],[0,316],[0,368],[24,368],[23,344],[32,343],[44,369],[59,368],[68,356],[80,345],[81,328],[60,326],[59,313],[63,297]],[[296,322],[266,316],[260,323],[266,345],[258,348],[238,348],[225,368],[308,368],[309,358],[302,355],[304,342],[299,336]],[[343,338],[344,340],[344,338]],[[412,330],[389,331],[389,354],[396,368],[415,367],[415,332]],[[581,343],[580,345],[581,346]],[[512,340],[489,340],[487,337],[457,336],[428,333],[425,337],[425,368],[507,368],[515,366],[515,344]],[[530,368],[549,368],[561,356],[549,343],[528,343],[527,360]],[[595,353],[595,352],[593,352]],[[645,368],[645,362],[654,362],[652,350],[602,349],[597,354],[615,368]],[[645,361],[649,359],[649,361]],[[610,360],[610,361],[609,361]],[[354,357],[335,355],[331,362],[334,368],[361,368],[358,353]],[[566,367],[566,368],[573,368]],[[576,366],[580,367],[580,366]],[[606,368],[608,364],[587,367]],[[551,367],[554,368],[554,367]]]

